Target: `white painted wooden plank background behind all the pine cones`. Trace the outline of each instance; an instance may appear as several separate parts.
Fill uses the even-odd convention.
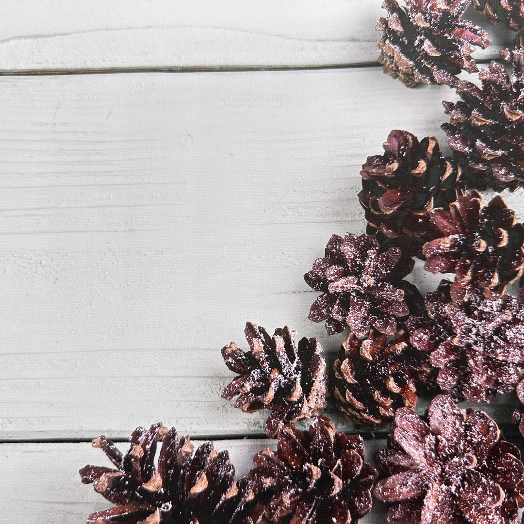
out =
[[[265,414],[220,397],[220,348],[245,347],[247,320],[318,336],[333,361],[343,336],[307,320],[302,275],[332,233],[365,231],[366,157],[393,128],[444,144],[455,100],[381,72],[380,3],[3,5],[0,522],[81,524],[110,506],[80,484],[104,462],[90,440],[158,420],[246,473]],[[512,38],[488,29],[483,60]],[[440,279],[420,264],[410,278]],[[507,403],[488,408],[506,423]],[[384,441],[367,439],[372,457]],[[382,519],[377,505],[363,522]]]

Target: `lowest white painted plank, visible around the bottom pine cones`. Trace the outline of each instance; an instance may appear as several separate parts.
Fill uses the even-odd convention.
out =
[[[128,447],[119,446],[123,451]],[[248,473],[252,457],[267,446],[276,449],[276,441],[215,442],[215,449],[229,451],[237,477]],[[366,442],[368,460],[384,446],[381,440]],[[89,443],[0,444],[0,456],[0,511],[9,516],[9,524],[83,524],[91,513],[111,507],[91,485],[80,482],[78,470],[85,464],[112,466],[101,450]],[[384,505],[377,501],[361,523],[383,522],[384,512]]]

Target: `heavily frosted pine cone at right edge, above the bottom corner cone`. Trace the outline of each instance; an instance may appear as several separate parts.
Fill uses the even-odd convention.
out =
[[[451,287],[443,280],[426,295],[432,323],[412,331],[410,342],[431,352],[430,363],[440,368],[436,380],[454,400],[490,402],[522,378],[524,297],[490,300],[479,290],[470,301],[456,303]]]

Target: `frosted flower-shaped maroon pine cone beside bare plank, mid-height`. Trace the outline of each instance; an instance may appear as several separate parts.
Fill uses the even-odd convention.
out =
[[[322,291],[308,318],[326,321],[328,334],[350,326],[358,336],[376,329],[386,335],[397,332],[397,319],[409,314],[413,286],[402,281],[413,269],[414,261],[392,247],[379,252],[373,235],[345,238],[333,235],[325,248],[325,257],[317,258],[304,280],[315,291]]]

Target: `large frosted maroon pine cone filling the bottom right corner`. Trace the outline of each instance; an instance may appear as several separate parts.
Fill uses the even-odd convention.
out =
[[[399,408],[377,460],[386,478],[374,494],[392,504],[387,524],[516,524],[524,505],[517,447],[486,413],[444,395],[426,417]]]

